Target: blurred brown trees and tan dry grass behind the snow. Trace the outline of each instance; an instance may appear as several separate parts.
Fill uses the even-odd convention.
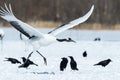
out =
[[[95,9],[81,29],[120,29],[120,0],[0,0],[11,3],[15,16],[36,27],[57,27]],[[8,25],[0,19],[0,24]]]

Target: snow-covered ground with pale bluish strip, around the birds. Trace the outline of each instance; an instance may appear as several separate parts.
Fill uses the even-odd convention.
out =
[[[19,64],[4,61],[5,57],[27,57],[31,52],[24,51],[25,44],[19,39],[19,32],[14,28],[3,28],[5,38],[3,50],[0,51],[0,80],[119,80],[120,78],[120,31],[87,31],[68,30],[58,38],[71,37],[77,43],[54,43],[41,47],[39,51],[47,58],[48,65],[44,65],[39,54],[34,53],[30,58],[39,66],[31,65],[28,69],[18,68]],[[40,29],[47,33],[49,29]],[[93,41],[100,37],[101,41]],[[0,45],[1,47],[1,45]],[[84,58],[82,53],[87,51]],[[73,56],[79,71],[72,71],[70,64],[65,71],[59,70],[62,57]],[[112,62],[106,66],[93,66],[99,61],[110,58]],[[69,59],[69,58],[68,58]],[[70,61],[70,59],[69,59]]]

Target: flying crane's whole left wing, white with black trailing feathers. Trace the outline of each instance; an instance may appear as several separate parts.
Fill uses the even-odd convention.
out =
[[[17,19],[12,12],[12,8],[10,4],[8,6],[5,4],[4,8],[0,7],[0,17],[8,21],[14,28],[16,28],[18,31],[20,31],[28,38],[32,38],[32,37],[40,38],[43,35],[35,28]]]

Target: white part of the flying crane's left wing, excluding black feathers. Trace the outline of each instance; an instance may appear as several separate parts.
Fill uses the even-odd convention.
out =
[[[0,10],[0,17],[8,22],[16,21],[20,28],[22,28],[25,32],[27,32],[30,36],[34,35],[39,38],[43,37],[43,34],[36,30],[35,28],[31,27],[30,25],[22,22],[21,20],[17,19],[11,9],[11,5],[9,4],[9,8],[5,4],[5,8],[1,7]]]

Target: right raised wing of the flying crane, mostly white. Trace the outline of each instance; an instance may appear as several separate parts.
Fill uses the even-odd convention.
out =
[[[65,31],[65,30],[67,30],[69,28],[72,28],[72,27],[74,27],[74,26],[76,26],[76,25],[78,25],[80,23],[85,22],[90,17],[93,10],[94,10],[94,5],[92,5],[90,11],[87,14],[85,14],[83,17],[75,19],[75,20],[73,20],[73,21],[71,21],[71,22],[69,22],[67,24],[61,25],[61,26],[55,28],[54,30],[50,31],[48,34],[52,34],[52,35],[56,36],[57,34]]]

